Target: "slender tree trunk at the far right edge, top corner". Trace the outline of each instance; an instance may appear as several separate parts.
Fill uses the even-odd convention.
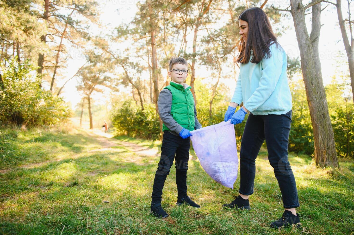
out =
[[[337,0],[337,15],[339,28],[341,29],[344,48],[346,49],[348,64],[349,64],[349,74],[350,74],[350,83],[352,84],[352,94],[354,97],[354,39],[352,32],[352,20],[350,18],[350,6],[348,6],[349,11],[349,30],[350,30],[350,42],[347,35],[346,25],[344,23],[343,14],[342,14],[342,5],[341,0]],[[354,102],[354,99],[353,99]]]

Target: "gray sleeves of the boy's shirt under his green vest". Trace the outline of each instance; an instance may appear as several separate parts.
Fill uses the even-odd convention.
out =
[[[161,90],[159,99],[157,101],[157,105],[159,108],[160,118],[162,122],[166,125],[166,127],[171,130],[170,133],[172,133],[173,135],[179,135],[183,127],[179,125],[171,115],[172,93],[169,89]],[[197,110],[195,107],[195,103],[194,103],[194,121],[195,121],[195,125],[194,125],[195,129],[199,129],[202,127],[197,118]]]

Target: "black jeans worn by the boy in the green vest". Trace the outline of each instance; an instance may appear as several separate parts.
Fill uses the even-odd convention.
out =
[[[169,131],[164,131],[164,139],[161,146],[161,158],[155,173],[152,201],[160,202],[162,189],[164,188],[167,175],[173,164],[176,155],[176,184],[178,198],[187,196],[187,170],[189,160],[190,138],[182,139]]]

